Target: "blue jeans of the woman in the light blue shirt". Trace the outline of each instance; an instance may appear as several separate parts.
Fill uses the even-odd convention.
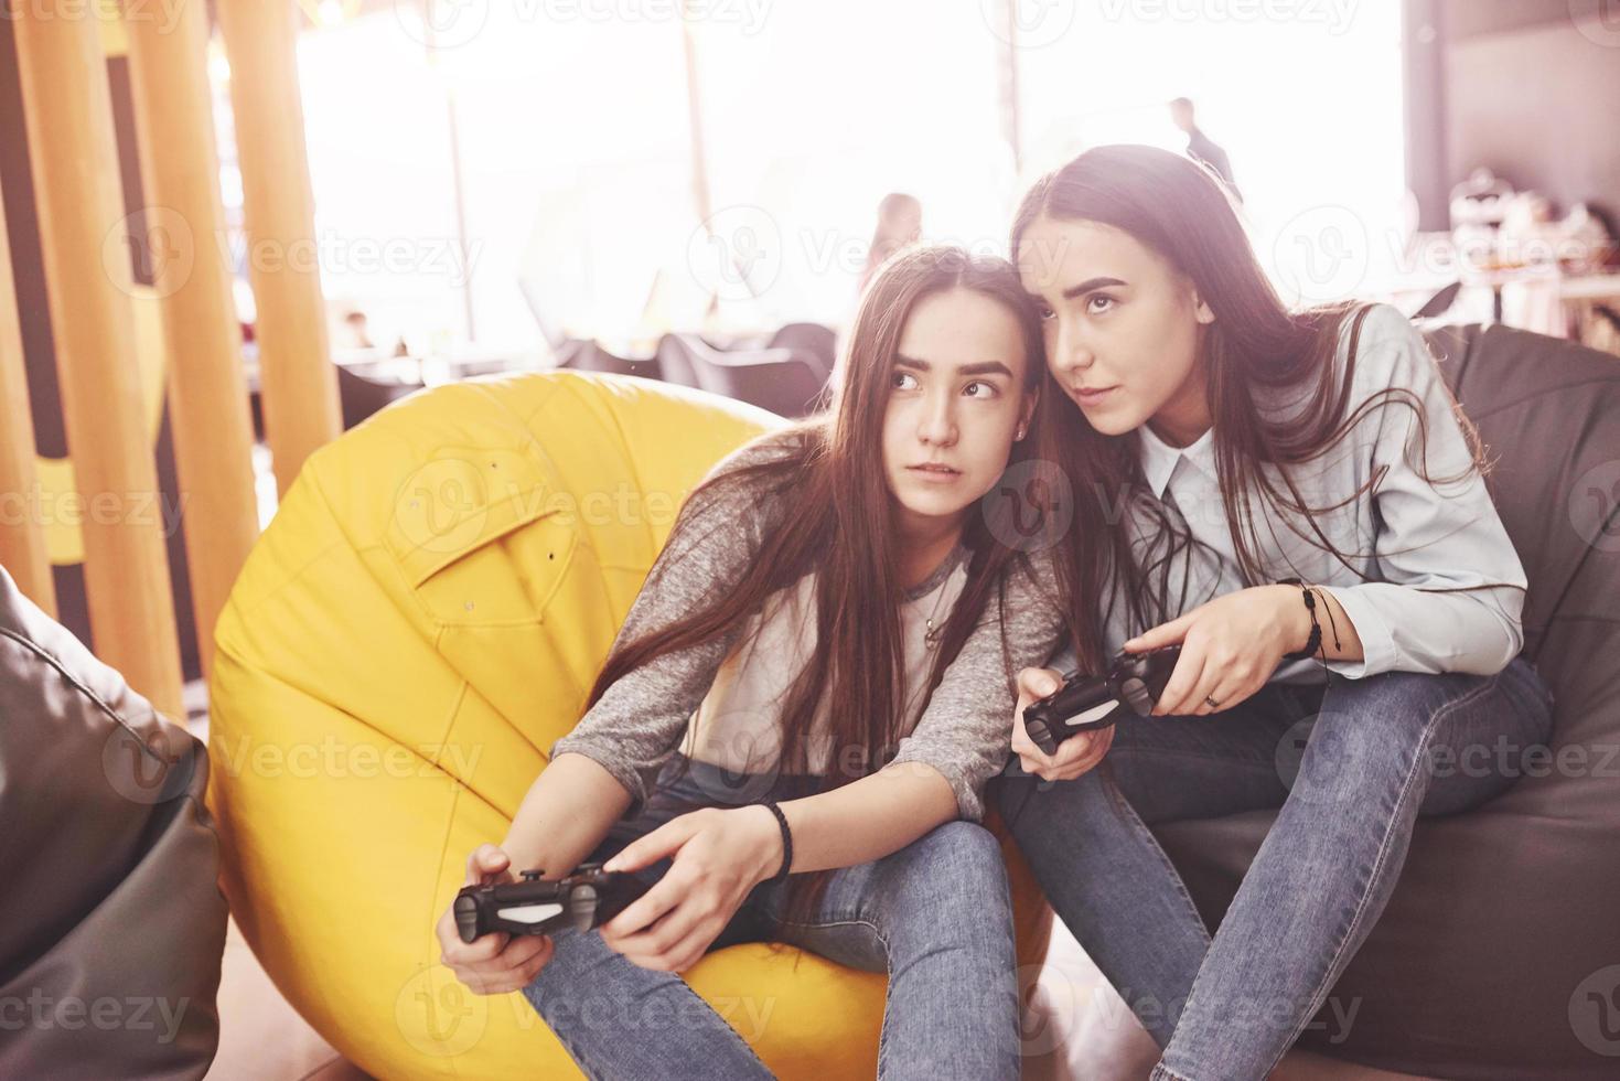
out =
[[[1524,660],[1495,676],[1272,684],[1200,718],[1119,721],[1103,765],[993,799],[1047,898],[1163,1049],[1153,1078],[1265,1078],[1383,911],[1418,815],[1476,807],[1552,733]],[[1280,807],[1213,940],[1149,831]]]

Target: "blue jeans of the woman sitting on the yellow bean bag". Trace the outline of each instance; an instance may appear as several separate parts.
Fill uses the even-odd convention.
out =
[[[676,758],[643,812],[617,823],[591,854],[601,861],[697,807],[740,805],[813,791],[810,778],[744,776]],[[651,883],[667,861],[642,872]],[[784,890],[761,885],[711,948],[784,942],[831,961],[888,972],[880,1078],[1019,1076],[1019,1000],[1013,904],[995,836],[948,822],[880,861],[833,874],[818,909],[784,919]],[[591,1078],[770,1078],[739,1036],[758,1034],[770,1000],[742,998],[731,1021],[676,972],[638,968],[598,932],[564,930],[523,995]],[[735,1024],[735,1028],[734,1028]],[[828,1028],[836,1023],[828,1018]]]

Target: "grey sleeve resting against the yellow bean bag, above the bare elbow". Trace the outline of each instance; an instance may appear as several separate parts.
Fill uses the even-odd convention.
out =
[[[781,457],[784,444],[765,436],[731,454],[710,473]],[[727,486],[693,496],[630,606],[614,648],[663,630],[742,580],[765,543],[773,507],[757,493]],[[740,626],[698,647],[666,653],[620,676],[573,731],[551,747],[551,757],[591,758],[630,793],[627,815],[640,812],[658,771],[674,754],[714,673],[737,643]]]

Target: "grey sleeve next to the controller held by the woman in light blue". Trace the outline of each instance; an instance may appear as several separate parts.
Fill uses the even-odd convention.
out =
[[[1003,655],[1003,622],[1006,655]],[[1006,579],[1006,605],[991,598],[978,624],[928,699],[912,734],[901,741],[894,762],[922,762],[938,770],[956,793],[956,812],[969,822],[983,818],[985,783],[1006,767],[1013,747],[1013,710],[1017,699],[1008,684],[1008,664],[1047,663],[1063,639],[1056,574],[1045,554]]]

